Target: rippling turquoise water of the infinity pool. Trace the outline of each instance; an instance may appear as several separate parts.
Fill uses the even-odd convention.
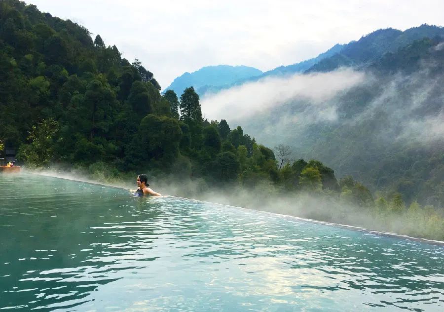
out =
[[[0,174],[0,311],[444,311],[444,247]]]

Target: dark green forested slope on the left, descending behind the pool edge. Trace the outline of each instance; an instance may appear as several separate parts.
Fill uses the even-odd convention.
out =
[[[203,119],[192,86],[180,95],[160,90],[139,60],[122,58],[100,35],[92,39],[35,5],[0,2],[0,150],[17,148],[26,167],[81,168],[107,180],[174,175],[204,181],[201,192],[252,196],[266,185],[271,196],[308,193],[358,207],[377,230],[444,239],[443,209],[416,201],[406,207],[400,193],[384,198],[351,176],[337,181],[318,160],[291,159],[287,146],[273,150],[241,126]]]

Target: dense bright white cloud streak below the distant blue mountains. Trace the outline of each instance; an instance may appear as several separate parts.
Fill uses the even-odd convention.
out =
[[[329,100],[365,80],[363,72],[345,68],[330,73],[263,78],[216,94],[205,94],[201,101],[202,112],[208,119],[236,121],[299,100],[316,107],[317,117],[335,120],[335,107],[328,103]],[[297,121],[304,117],[292,118]]]

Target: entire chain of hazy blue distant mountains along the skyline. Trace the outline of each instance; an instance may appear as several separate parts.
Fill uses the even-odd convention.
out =
[[[196,72],[191,74],[185,73],[174,79],[173,83],[165,91],[172,89],[180,96],[185,88],[192,85],[196,92],[203,96],[207,92],[217,93],[223,89],[257,81],[265,77],[282,77],[296,73],[329,72],[342,66],[360,67],[377,61],[386,53],[394,53],[415,40],[435,37],[444,38],[443,27],[423,24],[419,27],[409,28],[404,32],[393,28],[379,29],[361,37],[357,41],[350,41],[347,44],[335,44],[332,48],[314,58],[292,65],[279,66],[264,73],[251,67],[241,66],[241,68],[253,70],[243,70],[243,77],[233,75],[229,78],[225,76],[229,75],[228,70],[225,69],[221,74],[219,73],[220,67],[230,68],[228,65],[204,67]],[[218,79],[218,75],[222,75],[220,79]],[[212,81],[217,81],[217,83]]]

